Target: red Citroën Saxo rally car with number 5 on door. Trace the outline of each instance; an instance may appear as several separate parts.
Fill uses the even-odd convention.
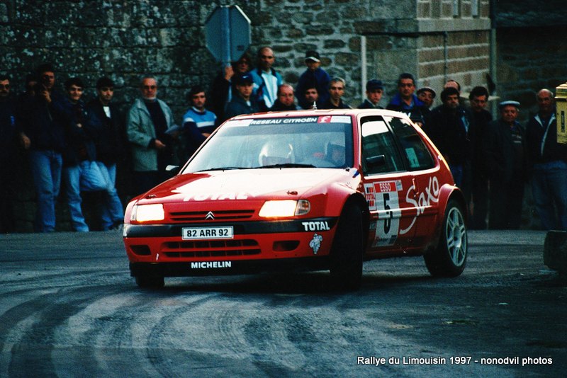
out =
[[[123,239],[140,287],[330,270],[354,289],[376,258],[422,255],[432,275],[460,275],[465,209],[446,161],[402,113],[262,113],[226,121],[176,176],[135,197]]]

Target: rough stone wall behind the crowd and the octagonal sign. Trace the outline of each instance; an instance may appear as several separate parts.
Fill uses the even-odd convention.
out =
[[[305,51],[315,49],[331,76],[347,80],[345,99],[357,105],[364,81],[362,36],[393,36],[386,46],[368,46],[370,55],[386,55],[386,61],[369,69],[373,76],[383,73],[381,79],[395,83],[403,68],[399,62],[406,62],[410,63],[405,64],[406,70],[425,83],[431,78],[421,75],[429,73],[432,62],[423,56],[406,58],[420,49],[427,55],[430,42],[412,38],[444,30],[486,30],[490,25],[488,0],[478,1],[478,16],[472,15],[472,3],[460,0],[459,16],[453,16],[452,0],[5,0],[0,4],[0,53],[4,57],[0,70],[10,74],[16,89],[21,89],[29,71],[42,62],[52,62],[60,83],[69,76],[81,76],[90,84],[86,96],[94,96],[94,82],[106,74],[116,81],[116,101],[124,108],[137,96],[140,76],[155,74],[160,80],[159,96],[172,105],[179,119],[186,108],[188,88],[208,86],[220,69],[204,45],[208,15],[218,4],[237,4],[252,21],[249,50],[271,45],[275,67],[285,81],[296,84],[305,70]],[[448,41],[450,59],[459,58],[451,62],[456,67],[450,67],[449,74],[465,75],[471,64],[460,59],[471,54],[476,59],[476,52],[453,50],[451,44],[462,44],[461,37],[454,38],[457,40]],[[465,45],[468,49],[471,43]],[[445,63],[437,60],[435,64]],[[441,84],[436,75],[431,83]]]

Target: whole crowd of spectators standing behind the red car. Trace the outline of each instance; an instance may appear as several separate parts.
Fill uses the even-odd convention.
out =
[[[193,86],[181,125],[157,97],[155,76],[142,77],[140,97],[123,115],[113,103],[114,83],[108,77],[96,81],[96,97],[86,101],[82,79],[67,79],[61,92],[50,64],[28,75],[26,90],[18,96],[11,93],[11,78],[0,75],[0,232],[14,231],[11,177],[19,148],[26,151],[33,177],[35,231],[55,231],[60,191],[74,231],[90,229],[82,210],[84,193],[89,192],[102,193],[101,229],[120,229],[123,204],[116,167],[126,155],[133,194],[138,195],[169,177],[166,166],[175,161],[176,146],[182,146],[181,159],[189,158],[220,123],[235,115],[351,108],[343,99],[347,82],[321,67],[318,52],[306,52],[305,71],[295,88],[283,82],[275,61],[274,51],[262,47],[255,67],[246,53],[215,76],[209,88]],[[437,146],[468,202],[469,228],[518,229],[524,184],[530,182],[542,227],[567,230],[567,145],[557,142],[551,91],[537,93],[538,112],[520,125],[516,101],[501,102],[493,120],[485,109],[490,93],[483,86],[462,98],[459,83],[449,80],[439,93],[441,105],[434,108],[437,91],[416,88],[412,74],[400,74],[397,89],[386,109],[407,114]],[[383,109],[383,91],[381,80],[369,80],[358,108]]]

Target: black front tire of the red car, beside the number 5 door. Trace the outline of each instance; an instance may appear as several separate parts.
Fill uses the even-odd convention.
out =
[[[332,288],[357,290],[360,287],[364,253],[363,234],[360,208],[347,205],[339,218],[330,253]]]

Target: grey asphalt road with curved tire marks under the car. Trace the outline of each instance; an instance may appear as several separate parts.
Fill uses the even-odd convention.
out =
[[[327,273],[140,290],[116,233],[0,235],[0,377],[564,377],[544,239],[471,232],[460,277],[377,260],[336,293]]]

